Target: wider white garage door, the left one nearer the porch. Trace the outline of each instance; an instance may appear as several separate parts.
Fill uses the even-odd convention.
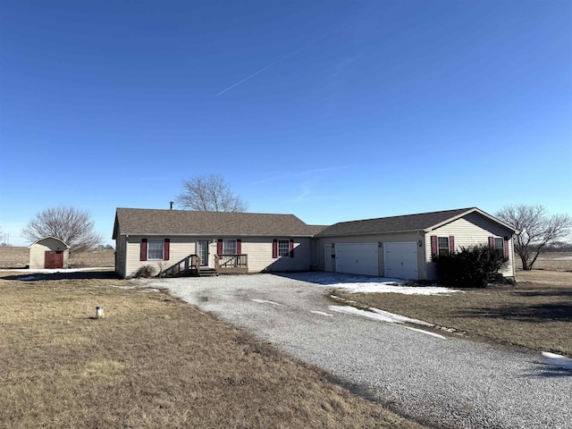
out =
[[[335,245],[336,272],[379,275],[377,243]]]

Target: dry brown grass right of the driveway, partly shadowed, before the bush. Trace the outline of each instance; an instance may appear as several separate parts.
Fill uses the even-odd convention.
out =
[[[572,356],[572,273],[517,271],[517,285],[465,289],[449,296],[336,295],[467,332],[467,338]]]

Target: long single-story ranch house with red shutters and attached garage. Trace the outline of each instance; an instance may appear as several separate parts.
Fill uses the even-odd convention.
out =
[[[320,270],[396,279],[437,279],[433,257],[488,244],[514,277],[516,230],[476,208],[407,214],[331,226],[293,214],[117,208],[115,272],[162,275]]]

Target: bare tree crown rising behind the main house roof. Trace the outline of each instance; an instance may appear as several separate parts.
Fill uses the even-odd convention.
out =
[[[219,174],[195,176],[183,181],[184,191],[177,203],[188,210],[203,212],[246,212],[248,204],[231,190]]]

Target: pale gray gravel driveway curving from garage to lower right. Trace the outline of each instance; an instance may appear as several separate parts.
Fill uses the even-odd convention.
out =
[[[445,340],[332,311],[341,274],[164,279],[151,285],[245,328],[402,415],[438,427],[572,428],[572,372],[539,354]]]

